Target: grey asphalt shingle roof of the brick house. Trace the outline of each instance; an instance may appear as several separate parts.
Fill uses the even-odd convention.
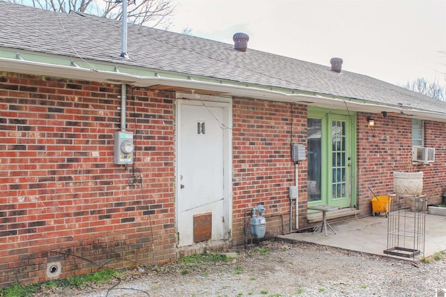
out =
[[[444,112],[446,102],[329,66],[128,24],[128,54],[121,54],[121,22],[55,13],[0,1],[0,47],[199,75],[295,91],[355,98]],[[249,47],[249,44],[248,44]]]

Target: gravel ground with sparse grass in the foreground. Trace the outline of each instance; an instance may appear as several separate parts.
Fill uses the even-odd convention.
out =
[[[229,263],[139,268],[103,287],[61,290],[52,296],[433,297],[436,289],[446,288],[446,259],[414,263],[282,241],[236,252]],[[189,273],[183,274],[186,268]]]

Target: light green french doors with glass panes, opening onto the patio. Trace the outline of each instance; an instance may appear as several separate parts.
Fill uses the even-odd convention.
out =
[[[355,205],[355,119],[321,109],[308,116],[308,204]]]

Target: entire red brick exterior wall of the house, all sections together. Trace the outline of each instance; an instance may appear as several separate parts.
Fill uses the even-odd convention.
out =
[[[120,85],[0,74],[2,286],[46,280],[52,261],[60,261],[61,277],[68,277],[100,266],[162,264],[181,254],[175,245],[175,94],[128,87],[128,130],[136,135],[142,188],[128,185],[131,166],[113,162],[120,95]],[[392,192],[392,172],[406,169],[411,147],[410,119],[374,115],[376,126],[369,128],[367,115],[357,115],[362,215],[371,213],[367,186]],[[234,98],[232,116],[231,236],[238,245],[246,215],[258,204],[266,207],[267,237],[289,230],[290,144],[306,146],[307,108]],[[436,147],[436,162],[417,167],[432,203],[446,187],[445,131],[445,123],[425,122],[425,145]],[[307,161],[299,162],[298,178],[299,225],[305,227]]]

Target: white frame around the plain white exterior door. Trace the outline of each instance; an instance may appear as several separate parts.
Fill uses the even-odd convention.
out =
[[[176,232],[178,234],[178,204],[177,199],[180,193],[180,168],[178,162],[178,152],[180,139],[180,127],[181,127],[181,105],[197,105],[197,106],[209,106],[209,107],[222,107],[224,109],[224,116],[226,123],[219,123],[224,129],[223,133],[223,153],[224,153],[224,207],[226,208],[226,232],[225,240],[231,241],[231,229],[232,229],[232,98],[221,96],[206,96],[186,93],[176,93],[176,165],[175,165],[175,181],[176,181]],[[177,237],[178,243],[178,237]]]

